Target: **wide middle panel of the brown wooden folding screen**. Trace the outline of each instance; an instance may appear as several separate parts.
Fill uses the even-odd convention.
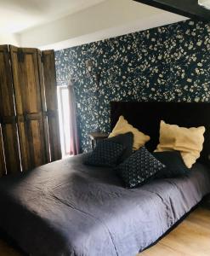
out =
[[[23,171],[46,163],[37,49],[10,46]]]

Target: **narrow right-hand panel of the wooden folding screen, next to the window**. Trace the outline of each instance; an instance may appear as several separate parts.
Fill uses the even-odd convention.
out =
[[[60,129],[57,102],[57,87],[54,66],[54,50],[44,50],[43,79],[45,87],[46,115],[48,117],[48,139],[51,154],[51,161],[61,159]],[[44,111],[46,109],[43,109]]]

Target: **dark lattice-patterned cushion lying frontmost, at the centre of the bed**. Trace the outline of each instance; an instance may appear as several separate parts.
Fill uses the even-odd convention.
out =
[[[164,167],[145,147],[142,147],[115,170],[128,188],[135,188],[145,183]]]

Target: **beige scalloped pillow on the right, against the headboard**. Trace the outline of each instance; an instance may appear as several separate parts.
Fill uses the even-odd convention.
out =
[[[184,128],[178,125],[168,125],[161,121],[160,143],[155,151],[180,151],[184,164],[191,168],[200,157],[204,132],[204,126]]]

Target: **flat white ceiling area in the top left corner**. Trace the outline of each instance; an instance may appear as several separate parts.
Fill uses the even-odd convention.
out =
[[[88,9],[105,0],[0,0],[0,33],[16,33]]]

